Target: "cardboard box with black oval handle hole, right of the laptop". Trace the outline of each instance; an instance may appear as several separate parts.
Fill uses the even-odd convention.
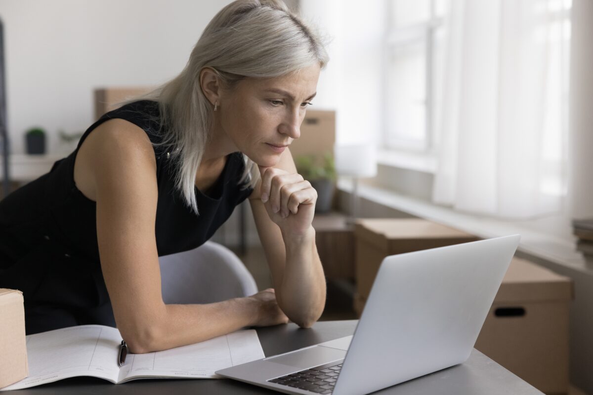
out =
[[[547,394],[569,390],[572,281],[513,258],[476,349]]]

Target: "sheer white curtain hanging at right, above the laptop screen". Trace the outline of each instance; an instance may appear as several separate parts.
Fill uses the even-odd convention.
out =
[[[561,211],[570,1],[450,4],[433,199],[514,219]]]

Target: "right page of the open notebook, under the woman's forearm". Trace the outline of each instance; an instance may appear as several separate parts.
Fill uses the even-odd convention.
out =
[[[239,330],[205,342],[148,354],[129,354],[120,382],[134,378],[220,378],[215,371],[264,358],[253,329]]]

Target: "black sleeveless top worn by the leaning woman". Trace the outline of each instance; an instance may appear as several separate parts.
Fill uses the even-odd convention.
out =
[[[58,160],[48,174],[0,201],[0,288],[23,291],[28,307],[94,309],[109,304],[97,246],[95,202],[74,184],[74,160],[95,127],[122,118],[161,141],[158,105],[137,101],[103,115],[85,131],[76,150]],[[196,188],[196,215],[174,187],[173,156],[154,146],[158,203],[155,224],[158,255],[202,245],[253,191],[240,185],[244,171],[240,152],[228,156],[209,195]],[[107,323],[109,325],[109,323]]]

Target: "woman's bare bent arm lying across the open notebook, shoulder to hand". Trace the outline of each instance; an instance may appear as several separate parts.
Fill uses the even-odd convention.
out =
[[[164,304],[155,239],[156,160],[148,136],[127,121],[110,120],[88,136],[78,155],[75,181],[97,202],[103,277],[117,327],[132,352],[286,322],[273,291],[212,304]]]

